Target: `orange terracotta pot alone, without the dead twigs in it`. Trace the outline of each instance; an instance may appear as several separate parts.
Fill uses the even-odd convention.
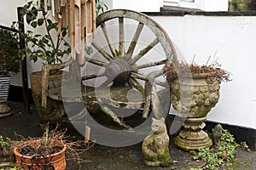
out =
[[[40,143],[40,140],[38,140]],[[54,154],[45,155],[45,156],[24,156],[20,154],[19,148],[15,147],[14,153],[16,158],[16,163],[20,164],[24,170],[44,170],[44,169],[55,169],[55,170],[65,170],[66,169],[66,160],[65,160],[65,150],[67,145],[63,145],[61,151]]]

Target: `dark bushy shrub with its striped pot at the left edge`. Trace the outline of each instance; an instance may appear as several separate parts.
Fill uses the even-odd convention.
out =
[[[19,42],[15,33],[0,28],[0,98],[8,99],[10,73],[20,71]]]

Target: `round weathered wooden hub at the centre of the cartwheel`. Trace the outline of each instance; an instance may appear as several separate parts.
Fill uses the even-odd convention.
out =
[[[131,65],[125,59],[114,59],[105,70],[105,75],[113,82],[126,82],[131,74]]]

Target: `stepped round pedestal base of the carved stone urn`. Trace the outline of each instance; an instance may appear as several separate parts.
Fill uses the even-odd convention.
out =
[[[174,144],[182,150],[198,150],[212,146],[212,139],[202,129],[207,117],[187,118],[184,129],[174,139]]]

